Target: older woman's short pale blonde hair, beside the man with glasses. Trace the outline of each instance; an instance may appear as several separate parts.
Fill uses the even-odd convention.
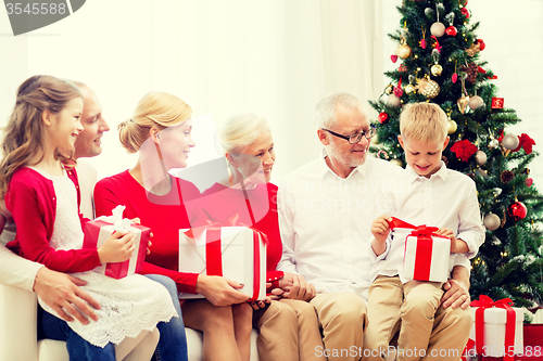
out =
[[[238,154],[251,145],[263,132],[272,133],[266,119],[252,113],[228,118],[217,132],[218,143],[225,153]]]

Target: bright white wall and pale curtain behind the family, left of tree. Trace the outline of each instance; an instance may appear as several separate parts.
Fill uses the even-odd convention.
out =
[[[343,90],[367,101],[381,88],[379,1],[92,0],[17,37],[0,10],[0,119],[30,75],[86,82],[112,126],[103,154],[90,160],[104,177],[136,162],[121,149],[116,125],[143,94],[163,90],[217,121],[242,112],[266,117],[277,180],[318,155],[313,108],[320,98]],[[199,126],[194,134],[204,140],[190,164],[214,149],[212,130]]]

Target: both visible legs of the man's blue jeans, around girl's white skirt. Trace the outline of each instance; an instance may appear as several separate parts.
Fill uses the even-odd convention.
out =
[[[171,278],[161,274],[147,274],[146,276],[166,287],[172,296],[177,314],[179,314],[178,318],[172,318],[169,322],[159,322],[156,325],[161,333],[159,346],[156,347],[156,359],[159,361],[188,361],[187,337],[176,283]],[[110,343],[104,348],[93,346],[76,334],[67,325],[66,321],[43,311],[39,307],[38,339],[43,338],[66,341],[70,360],[115,361],[115,347],[113,344]]]

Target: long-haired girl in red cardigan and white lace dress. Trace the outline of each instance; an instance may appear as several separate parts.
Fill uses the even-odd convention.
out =
[[[68,323],[90,344],[85,350],[91,349],[102,360],[149,360],[154,347],[148,348],[147,354],[138,348],[129,352],[142,337],[151,337],[156,345],[156,323],[168,321],[176,312],[167,291],[159,283],[141,275],[115,280],[91,271],[102,263],[129,259],[135,246],[130,232],[118,232],[98,249],[81,249],[83,225],[89,220],[78,211],[77,176],[66,171],[73,165],[66,154],[72,154],[83,130],[81,112],[81,95],[67,81],[34,76],[18,88],[4,131],[0,165],[0,196],[5,197],[17,227],[15,241],[8,247],[49,269],[76,272],[87,282],[83,288],[101,305],[96,311],[99,318],[88,324]],[[56,314],[45,302],[40,305]],[[49,330],[45,332],[48,337]],[[72,344],[80,338],[66,338],[71,359],[79,359],[78,352],[84,352]],[[80,345],[79,340],[74,343]],[[93,348],[112,352],[104,354]]]

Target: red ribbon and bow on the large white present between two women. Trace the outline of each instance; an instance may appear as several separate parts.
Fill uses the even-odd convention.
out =
[[[194,238],[201,235],[203,232],[207,233],[205,242],[205,266],[207,268],[207,275],[219,275],[223,276],[223,258],[220,257],[222,244],[220,244],[220,229],[223,227],[245,227],[253,231],[253,297],[248,299],[248,301],[253,301],[258,299],[258,286],[261,279],[261,248],[258,245],[258,235],[265,245],[268,244],[268,237],[262,231],[255,229],[254,227],[245,225],[238,221],[239,216],[236,214],[222,223],[213,222],[206,220],[207,224],[191,228],[190,230],[184,232],[189,238]],[[211,240],[211,241],[210,241]]]

